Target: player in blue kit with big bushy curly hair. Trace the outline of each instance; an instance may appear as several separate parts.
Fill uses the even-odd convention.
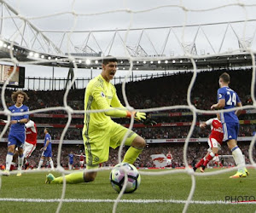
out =
[[[23,91],[15,91],[12,96],[12,101],[15,105],[9,107],[9,111],[12,113],[18,112],[28,112],[29,109],[23,102],[27,101],[29,98]],[[23,146],[26,139],[26,128],[25,124],[28,121],[28,114],[25,115],[12,115],[10,121],[10,130],[8,136],[8,151],[6,155],[6,169],[3,171],[3,176],[9,176],[10,165],[13,160],[15,153],[15,147],[18,147],[18,170],[22,169],[24,156],[23,156]],[[21,176],[19,172],[17,176]]]

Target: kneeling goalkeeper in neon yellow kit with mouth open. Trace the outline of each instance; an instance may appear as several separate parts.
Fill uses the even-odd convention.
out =
[[[102,61],[102,73],[90,80],[85,90],[84,97],[84,129],[83,139],[86,153],[87,171],[73,173],[65,176],[67,183],[79,183],[94,181],[99,164],[108,161],[109,147],[119,147],[126,132],[129,131],[125,141],[130,148],[125,153],[123,162],[133,164],[145,147],[145,140],[135,132],[113,122],[110,117],[131,118],[120,103],[116,95],[116,89],[110,80],[117,70],[117,59],[107,57]],[[124,108],[124,110],[115,109]],[[108,110],[104,112],[88,112],[89,110]],[[144,112],[133,112],[137,120],[146,119]],[[52,174],[46,176],[46,183],[62,183],[63,177],[55,177]]]

